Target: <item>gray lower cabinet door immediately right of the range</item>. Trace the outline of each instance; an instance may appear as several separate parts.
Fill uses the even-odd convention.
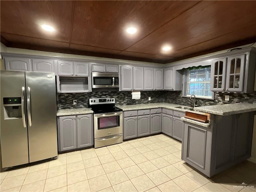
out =
[[[138,118],[126,117],[124,118],[124,139],[138,137]]]

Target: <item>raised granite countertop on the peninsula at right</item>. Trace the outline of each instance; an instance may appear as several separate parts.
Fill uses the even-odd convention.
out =
[[[195,107],[194,110],[224,116],[256,111],[256,104],[232,103],[224,105]]]

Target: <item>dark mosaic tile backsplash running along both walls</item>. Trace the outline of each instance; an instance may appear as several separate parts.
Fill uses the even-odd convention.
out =
[[[225,95],[230,96],[229,101],[225,101]],[[140,100],[132,100],[131,92],[90,92],[90,93],[58,93],[58,109],[63,109],[72,106],[73,100],[77,100],[77,105],[70,108],[88,107],[89,98],[97,97],[114,97],[116,105],[132,105],[144,103],[167,102],[186,106],[193,106],[193,102],[189,98],[182,97],[182,91],[141,91]],[[151,101],[148,100],[151,97]],[[256,92],[251,94],[240,93],[215,93],[214,100],[196,99],[198,106],[208,106],[227,103],[248,102],[256,103]]]

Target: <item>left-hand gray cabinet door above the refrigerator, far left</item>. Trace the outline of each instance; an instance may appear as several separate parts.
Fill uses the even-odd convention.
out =
[[[31,59],[18,57],[5,57],[5,69],[11,71],[32,71]]]

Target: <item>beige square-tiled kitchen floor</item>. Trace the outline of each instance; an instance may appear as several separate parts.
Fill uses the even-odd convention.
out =
[[[209,179],[180,156],[180,142],[164,134],[149,136],[2,172],[1,191],[256,191],[256,164],[246,161]],[[242,182],[255,188],[234,187]]]

